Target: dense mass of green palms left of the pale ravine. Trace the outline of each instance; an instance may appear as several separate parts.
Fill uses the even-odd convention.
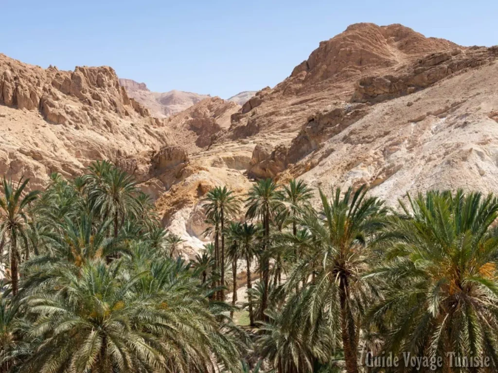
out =
[[[30,253],[15,256],[19,293],[1,284],[1,372],[241,371],[248,340],[230,306],[175,258],[181,237],[132,177],[96,162],[43,193],[27,185],[0,194],[2,245]]]

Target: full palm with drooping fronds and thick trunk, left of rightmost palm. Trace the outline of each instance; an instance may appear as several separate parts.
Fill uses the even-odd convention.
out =
[[[299,281],[316,274],[316,279],[307,285],[312,304],[306,312],[313,322],[321,320],[324,312],[337,312],[348,373],[358,372],[360,325],[355,308],[365,307],[366,291],[361,275],[366,273],[373,257],[368,243],[385,225],[382,201],[367,198],[366,192],[365,186],[356,192],[349,188],[344,195],[337,189],[329,201],[320,191],[321,217],[305,214],[299,220],[311,239],[302,241],[293,235],[289,237],[296,237],[296,244],[307,246],[307,254],[292,271],[286,286],[289,291],[294,290]]]

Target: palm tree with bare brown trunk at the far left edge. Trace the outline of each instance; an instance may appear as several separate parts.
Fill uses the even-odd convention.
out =
[[[29,179],[21,179],[14,186],[12,180],[2,180],[3,195],[0,197],[0,237],[3,242],[9,240],[10,247],[10,278],[12,280],[12,294],[17,294],[19,289],[17,266],[20,255],[17,248],[18,238],[27,248],[26,227],[28,218],[26,207],[33,202],[38,191],[34,190],[22,196]]]

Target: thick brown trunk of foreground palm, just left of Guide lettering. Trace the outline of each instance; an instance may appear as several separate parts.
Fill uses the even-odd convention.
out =
[[[349,304],[348,277],[342,275],[339,284],[339,299],[341,303],[341,329],[344,348],[344,359],[348,373],[358,373],[358,357],[356,344],[355,320]]]

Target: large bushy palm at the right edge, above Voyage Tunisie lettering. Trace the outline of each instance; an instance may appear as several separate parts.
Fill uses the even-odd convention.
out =
[[[496,371],[498,199],[458,190],[408,201],[389,226],[388,261],[368,276],[385,287],[369,319],[391,330],[387,351],[441,356],[448,372],[449,351],[487,356]]]

